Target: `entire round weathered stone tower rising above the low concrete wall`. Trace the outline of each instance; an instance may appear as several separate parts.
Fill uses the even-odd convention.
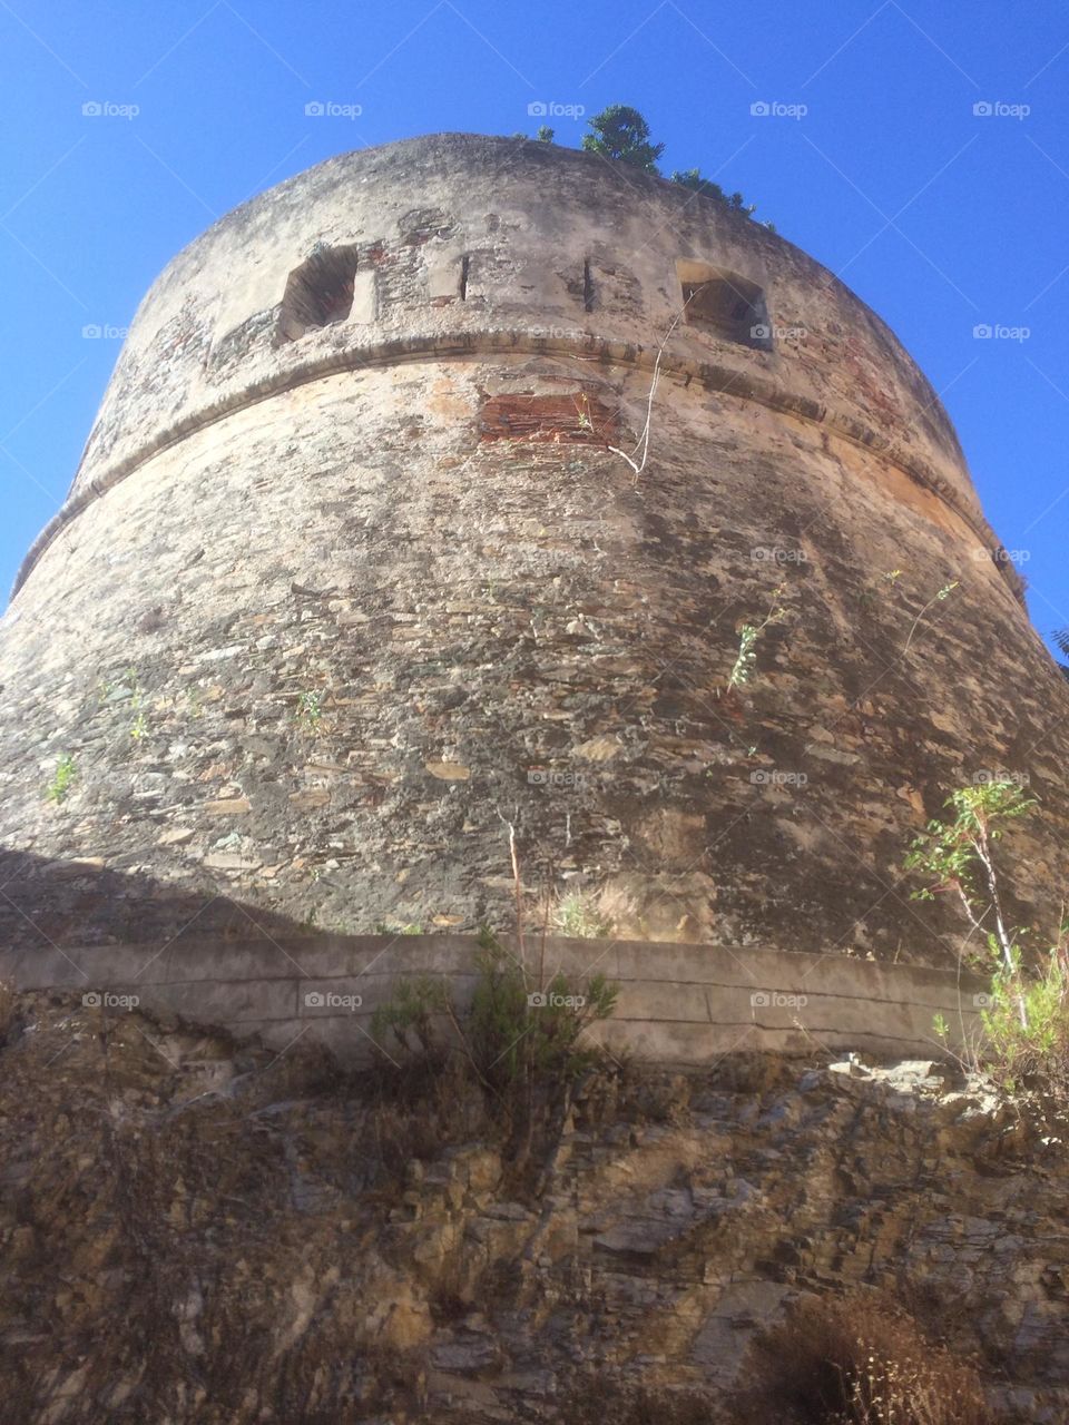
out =
[[[902,854],[1001,771],[1018,921],[1065,885],[1069,688],[928,382],[790,242],[547,144],[348,154],[181,252],[0,684],[27,946],[507,928],[512,826],[532,918],[949,963]]]

